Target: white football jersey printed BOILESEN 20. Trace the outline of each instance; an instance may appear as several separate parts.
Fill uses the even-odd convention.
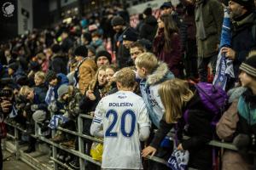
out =
[[[93,123],[103,127],[102,168],[143,169],[139,127],[150,121],[142,97],[130,91],[108,95],[97,105]]]

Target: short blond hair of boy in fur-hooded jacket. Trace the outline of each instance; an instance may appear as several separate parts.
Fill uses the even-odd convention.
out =
[[[158,66],[158,59],[152,53],[139,54],[135,59],[135,65],[139,68],[145,68],[148,73],[152,73],[154,69]]]

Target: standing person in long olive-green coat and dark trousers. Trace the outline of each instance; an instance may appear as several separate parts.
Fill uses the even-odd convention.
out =
[[[215,75],[223,19],[224,10],[218,0],[195,1],[198,71],[201,82],[207,82],[209,63],[212,66],[212,74]]]

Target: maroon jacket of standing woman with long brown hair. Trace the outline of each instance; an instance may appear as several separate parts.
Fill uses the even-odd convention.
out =
[[[164,31],[160,30],[159,35],[154,38],[153,51],[158,59],[166,62],[170,71],[175,77],[180,76],[180,62],[182,61],[182,52],[180,37],[177,33],[172,34],[172,50],[166,51],[164,49],[165,35]]]

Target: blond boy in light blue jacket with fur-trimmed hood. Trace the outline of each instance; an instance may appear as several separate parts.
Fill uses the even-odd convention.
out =
[[[140,89],[146,103],[149,116],[155,127],[164,115],[163,106],[158,94],[160,82],[174,78],[166,63],[156,59],[154,54],[143,53],[135,59],[137,75],[141,78]]]

